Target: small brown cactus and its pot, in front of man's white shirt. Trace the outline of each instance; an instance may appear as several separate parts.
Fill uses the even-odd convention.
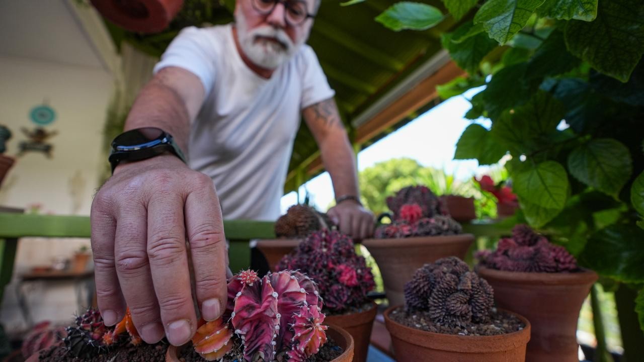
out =
[[[334,228],[331,219],[308,205],[292,205],[275,222],[277,239],[258,240],[257,247],[264,254],[271,270],[279,260],[295,249],[299,242],[314,231]]]

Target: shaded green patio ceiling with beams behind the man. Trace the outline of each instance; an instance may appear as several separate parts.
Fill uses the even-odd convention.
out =
[[[421,0],[446,10],[441,1]],[[463,74],[441,50],[440,33],[455,26],[446,17],[423,32],[393,32],[374,18],[392,4],[367,0],[340,6],[323,0],[308,44],[314,48],[352,142],[362,149],[439,102],[435,86]],[[140,35],[108,24],[118,45],[128,41],[150,55],[160,56],[185,26],[232,21],[234,0],[187,0],[171,26],[161,33]],[[323,171],[319,150],[304,122],[295,140],[285,193]]]

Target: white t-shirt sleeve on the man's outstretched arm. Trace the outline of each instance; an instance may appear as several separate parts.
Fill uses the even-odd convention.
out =
[[[215,77],[216,44],[207,30],[194,26],[184,28],[167,47],[154,73],[167,66],[177,66],[190,71],[204,84],[205,94],[213,89]]]

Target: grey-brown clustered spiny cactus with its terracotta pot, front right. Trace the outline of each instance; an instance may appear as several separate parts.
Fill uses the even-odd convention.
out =
[[[404,291],[404,306],[384,312],[397,361],[524,361],[529,321],[495,309],[492,288],[459,258],[423,265]]]

